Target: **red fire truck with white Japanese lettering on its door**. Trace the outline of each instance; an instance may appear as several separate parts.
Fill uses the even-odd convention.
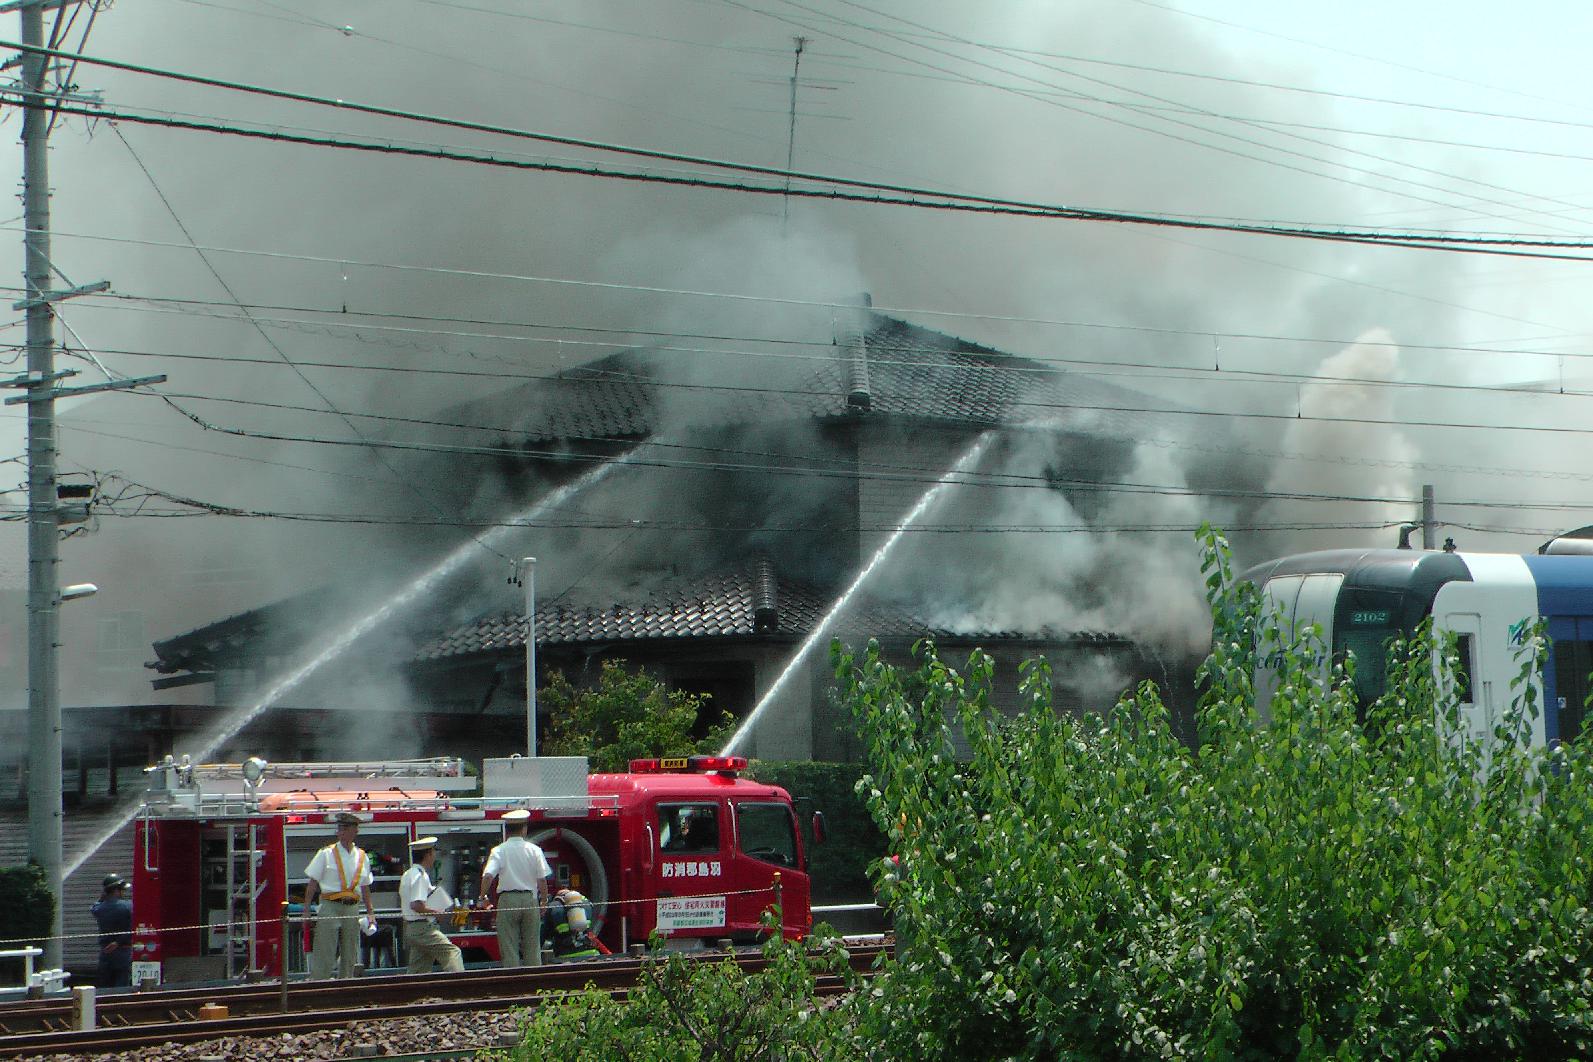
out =
[[[755,939],[777,901],[781,928],[811,928],[811,888],[790,795],[741,777],[741,756],[631,761],[588,774],[578,756],[193,764],[148,767],[132,858],[134,984],[226,981],[307,968],[304,869],[336,817],[362,818],[376,931],[366,968],[401,966],[398,879],[408,845],[435,836],[440,919],[465,962],[499,959],[492,896],[476,895],[505,812],[532,815],[554,882],[593,901],[597,936],[623,952],[653,933],[669,947]],[[479,790],[478,790],[479,787]],[[479,793],[479,795],[478,795]],[[812,817],[822,839],[822,815]]]

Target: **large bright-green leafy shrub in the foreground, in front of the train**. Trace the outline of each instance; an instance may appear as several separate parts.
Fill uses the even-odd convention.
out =
[[[1526,697],[1491,752],[1466,739],[1431,635],[1394,648],[1365,723],[1352,661],[1324,667],[1314,632],[1276,646],[1258,726],[1276,635],[1215,535],[1206,572],[1198,753],[1149,683],[1058,716],[1029,664],[1007,721],[981,653],[926,646],[916,675],[838,656],[910,927],[865,1037],[914,1059],[1588,1057],[1587,747],[1528,750]]]

